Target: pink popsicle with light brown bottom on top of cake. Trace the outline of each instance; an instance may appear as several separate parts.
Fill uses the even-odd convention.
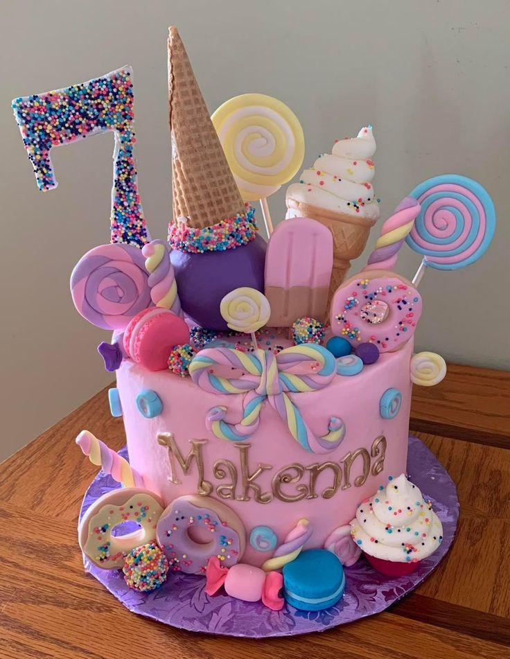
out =
[[[290,327],[304,316],[324,320],[332,268],[333,234],[327,227],[310,218],[281,222],[265,257],[269,325]]]

